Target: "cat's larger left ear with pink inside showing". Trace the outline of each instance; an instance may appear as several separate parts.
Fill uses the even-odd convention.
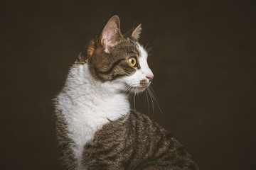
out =
[[[112,16],[103,28],[100,40],[105,52],[110,52],[110,47],[115,45],[121,37],[119,17],[117,15]]]

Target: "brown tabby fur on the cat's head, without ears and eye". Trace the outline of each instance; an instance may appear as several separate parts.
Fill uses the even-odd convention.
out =
[[[87,62],[90,73],[95,79],[105,82],[129,76],[138,67],[132,67],[127,62],[128,57],[139,58],[139,50],[136,42],[129,38],[120,37],[119,41],[110,47],[110,52],[105,52],[104,46],[100,44],[99,37],[90,42],[88,47],[81,52],[82,60],[76,62],[80,64]],[[85,56],[86,55],[86,56]]]

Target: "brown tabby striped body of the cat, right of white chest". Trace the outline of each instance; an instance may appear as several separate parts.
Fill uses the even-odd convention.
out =
[[[87,169],[198,169],[174,137],[136,111],[95,132],[82,164]]]

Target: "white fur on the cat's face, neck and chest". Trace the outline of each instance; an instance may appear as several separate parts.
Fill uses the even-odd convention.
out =
[[[146,51],[140,45],[139,50],[141,69],[123,79],[97,81],[91,76],[87,64],[70,69],[63,91],[57,96],[56,108],[67,121],[68,136],[75,142],[73,152],[78,159],[78,169],[82,169],[83,147],[92,140],[95,132],[109,120],[117,120],[129,113],[127,95],[119,91],[124,91],[127,85],[139,87],[139,81],[146,79],[146,75],[153,75],[146,62]]]

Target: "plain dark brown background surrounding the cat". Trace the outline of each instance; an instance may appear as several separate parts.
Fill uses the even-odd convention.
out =
[[[0,169],[60,169],[53,97],[113,15],[142,23],[159,109],[201,169],[255,169],[255,6],[248,1],[1,2]],[[145,96],[139,111],[148,112]],[[139,104],[140,103],[140,104]]]

